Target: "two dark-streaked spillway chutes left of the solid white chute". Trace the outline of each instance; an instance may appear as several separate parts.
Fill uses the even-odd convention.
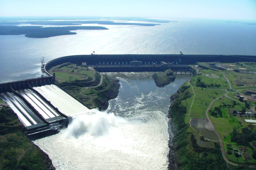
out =
[[[27,134],[58,131],[67,125],[67,116],[33,89],[23,89],[0,94],[25,125]],[[45,133],[46,134],[46,133]],[[46,134],[47,135],[47,134]]]

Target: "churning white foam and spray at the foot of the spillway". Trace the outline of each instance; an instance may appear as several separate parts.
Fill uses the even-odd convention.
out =
[[[92,109],[60,133],[34,142],[57,169],[166,169],[167,141],[158,130],[154,123]]]

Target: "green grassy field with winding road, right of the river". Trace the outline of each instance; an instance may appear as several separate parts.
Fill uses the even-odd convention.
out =
[[[246,108],[245,102],[249,104],[251,108],[255,107],[256,102],[252,99],[246,101],[239,101],[235,95],[253,96],[246,93],[247,89],[255,90],[255,76],[256,64],[255,63],[199,63],[199,66],[203,69],[199,69],[199,75],[193,77],[190,84],[193,86],[187,89],[187,94],[190,94],[185,100],[181,101],[182,106],[186,106],[186,114],[184,122],[188,124],[186,132],[188,134],[194,134],[197,141],[197,145],[203,148],[213,147],[212,143],[218,141],[217,136],[213,131],[209,131],[205,126],[206,110],[210,103],[215,100],[210,108],[209,116],[214,124],[217,132],[219,133],[223,146],[226,151],[227,158],[237,164],[241,165],[255,165],[256,160],[253,159],[252,154],[256,152],[256,149],[251,146],[251,142],[247,144],[238,144],[238,139],[245,140],[246,134],[244,131],[247,129],[250,135],[256,135],[256,128],[252,123],[245,122],[246,119],[256,120],[253,115],[236,116],[231,114],[234,111],[253,112]],[[208,68],[208,69],[207,69]],[[229,80],[232,89],[229,88],[228,81],[223,74]],[[217,86],[216,86],[217,84]],[[187,83],[185,83],[187,86]],[[230,98],[227,98],[225,94]],[[181,95],[181,93],[179,94]],[[183,94],[182,94],[183,95]],[[188,96],[188,95],[187,95]],[[193,102],[194,99],[194,102]],[[193,106],[191,107],[193,103]],[[191,107],[191,109],[190,109]],[[191,112],[191,113],[190,113]],[[190,113],[190,114],[189,114]],[[233,137],[235,132],[240,135],[238,139]],[[254,139],[251,138],[250,140]],[[204,141],[202,139],[210,139],[211,141]],[[246,138],[247,139],[247,138]],[[255,138],[256,141],[256,138]],[[238,152],[233,150],[237,149],[242,155],[239,156]]]

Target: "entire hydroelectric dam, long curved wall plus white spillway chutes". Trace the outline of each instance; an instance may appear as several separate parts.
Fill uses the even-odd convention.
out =
[[[63,63],[74,63],[81,66],[94,67],[99,72],[159,72],[171,69],[175,73],[185,72],[194,74],[189,64],[197,62],[256,62],[256,56],[244,55],[73,55],[56,58],[42,66],[48,77],[6,82],[0,84],[0,97],[11,106],[25,125],[27,134],[36,134],[45,131],[54,131],[59,126],[67,125],[68,116],[64,113],[63,100],[58,100],[66,92],[53,86],[55,76],[49,72],[50,68]],[[58,93],[61,93],[58,94]],[[67,95],[67,94],[66,94]],[[55,96],[53,100],[49,100]],[[70,97],[70,96],[69,96]],[[73,98],[73,97],[70,97]],[[74,99],[74,98],[73,98]],[[80,106],[81,111],[88,109]],[[57,106],[58,105],[58,106]],[[77,109],[78,106],[68,106]],[[62,111],[61,111],[62,109]],[[74,111],[75,112],[75,111]]]

